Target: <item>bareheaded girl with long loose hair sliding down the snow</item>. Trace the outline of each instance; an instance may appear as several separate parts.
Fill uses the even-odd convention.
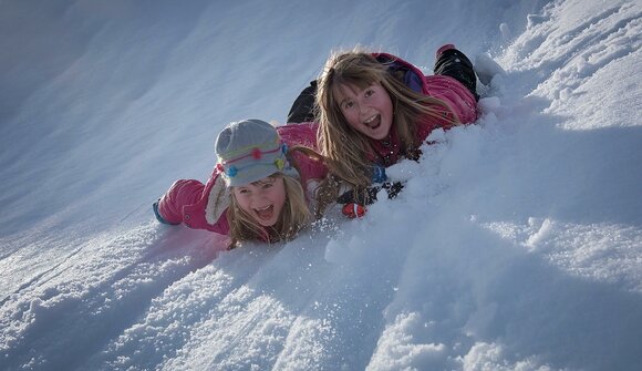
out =
[[[361,216],[381,186],[394,197],[403,186],[385,183],[385,167],[404,157],[418,159],[418,147],[433,130],[477,120],[468,58],[444,45],[434,72],[425,76],[397,56],[358,49],[330,56],[288,116],[289,122],[310,121],[318,109],[319,148],[330,173],[319,189],[321,212],[339,200],[345,215]]]

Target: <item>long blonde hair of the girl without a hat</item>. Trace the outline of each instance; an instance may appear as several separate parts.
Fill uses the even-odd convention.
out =
[[[318,143],[331,176],[320,186],[321,208],[336,197],[339,182],[358,190],[371,183],[373,164],[369,154],[373,150],[369,138],[352,128],[345,120],[336,99],[341,86],[354,85],[363,90],[380,83],[385,89],[393,102],[391,130],[396,131],[401,153],[408,158],[418,157],[422,143],[415,138],[417,123],[426,117],[444,121],[444,112],[452,112],[445,102],[414,92],[389,72],[389,65],[393,62],[382,63],[359,47],[348,52],[333,52],[325,62],[317,87]]]

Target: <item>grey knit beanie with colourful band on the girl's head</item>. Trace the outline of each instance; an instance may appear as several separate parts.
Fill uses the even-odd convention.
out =
[[[277,128],[250,118],[229,124],[216,138],[217,168],[228,186],[248,185],[275,173],[298,176]]]

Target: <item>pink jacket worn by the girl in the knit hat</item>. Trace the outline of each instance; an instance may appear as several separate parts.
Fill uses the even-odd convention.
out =
[[[283,143],[288,146],[306,145],[317,148],[315,123],[291,124],[277,127]],[[300,182],[312,202],[312,190],[324,178],[328,169],[322,163],[294,153],[293,161],[300,168]],[[214,168],[209,179],[203,184],[194,179],[176,181],[161,197],[158,213],[169,224],[184,223],[189,228],[207,229],[228,235],[227,206],[229,194],[220,173]]]

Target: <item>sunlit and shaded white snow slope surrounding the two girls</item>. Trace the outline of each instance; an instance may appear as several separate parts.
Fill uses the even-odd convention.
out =
[[[7,0],[0,28],[1,370],[642,364],[639,0]],[[356,43],[426,73],[455,43],[477,125],[286,245],[155,221]]]

